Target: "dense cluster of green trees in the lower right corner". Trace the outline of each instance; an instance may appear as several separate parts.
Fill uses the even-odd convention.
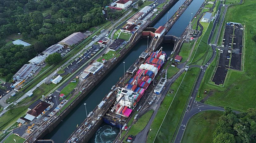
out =
[[[235,114],[225,107],[224,114],[214,131],[214,143],[255,143],[256,142],[256,109]]]

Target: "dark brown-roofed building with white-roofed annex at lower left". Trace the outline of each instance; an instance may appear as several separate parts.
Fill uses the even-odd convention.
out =
[[[34,108],[29,110],[27,112],[27,115],[24,117],[30,121],[32,121],[34,118],[39,118],[41,117],[46,111],[50,109],[49,103],[46,103],[44,101],[40,101]]]

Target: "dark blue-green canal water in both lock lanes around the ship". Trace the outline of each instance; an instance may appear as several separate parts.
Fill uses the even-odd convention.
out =
[[[180,3],[184,3],[185,0],[178,1],[172,8],[169,10],[168,17],[173,15],[176,10],[180,7]],[[168,32],[168,35],[180,36],[188,22],[190,21],[191,13],[194,14],[197,12],[201,6],[203,0],[194,0],[182,16],[177,20],[174,26]],[[154,27],[158,28],[159,26],[164,25],[167,20],[167,13],[164,14]],[[162,44],[163,51],[169,56],[174,45],[172,43]],[[55,143],[63,143],[67,138],[72,134],[76,129],[77,124],[80,125],[86,119],[86,112],[84,103],[86,103],[87,113],[91,112],[103,99],[106,94],[109,93],[111,87],[118,82],[119,77],[124,74],[124,64],[125,61],[125,71],[138,59],[138,56],[147,48],[147,39],[141,39],[131,51],[124,57],[123,60],[119,62],[117,66],[109,72],[108,75],[103,79],[81,102],[78,104],[72,112],[70,112],[67,117],[65,117],[62,122],[49,134],[44,136],[43,139],[52,139]],[[119,129],[112,127],[106,123],[102,123],[100,128],[94,134],[90,143],[106,143],[112,142],[115,137],[118,135]]]

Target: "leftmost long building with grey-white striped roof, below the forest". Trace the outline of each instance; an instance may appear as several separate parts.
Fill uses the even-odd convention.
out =
[[[14,81],[24,80],[34,68],[35,68],[35,65],[25,64],[24,66],[22,66],[22,68],[18,72],[16,72],[16,74],[13,76],[13,80]]]

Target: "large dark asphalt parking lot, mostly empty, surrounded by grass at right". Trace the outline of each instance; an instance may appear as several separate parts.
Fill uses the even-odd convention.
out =
[[[220,59],[213,82],[224,84],[228,69],[241,70],[243,27],[240,24],[226,24]]]

